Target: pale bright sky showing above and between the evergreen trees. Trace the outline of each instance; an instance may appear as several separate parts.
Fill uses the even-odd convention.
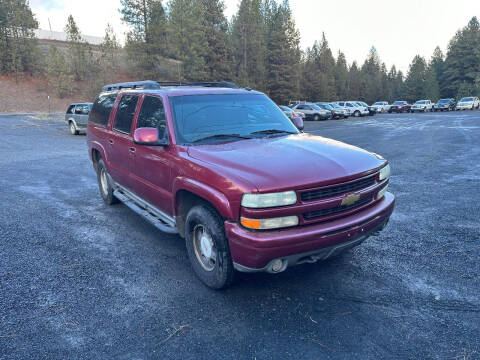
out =
[[[224,0],[230,18],[240,0]],[[278,0],[281,1],[281,0]],[[166,1],[164,0],[165,4]],[[103,36],[110,23],[119,39],[128,27],[118,12],[120,0],[30,0],[40,23],[62,31],[72,14],[85,35]],[[404,72],[415,55],[431,57],[436,46],[446,52],[448,41],[472,16],[480,18],[480,0],[290,0],[301,47],[306,49],[325,32],[336,56],[363,63],[372,46],[390,68]]]

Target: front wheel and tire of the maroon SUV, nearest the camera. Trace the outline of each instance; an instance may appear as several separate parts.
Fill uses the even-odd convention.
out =
[[[235,269],[228,239],[222,218],[214,209],[208,205],[190,209],[185,222],[185,243],[193,271],[205,285],[224,289],[233,283]]]

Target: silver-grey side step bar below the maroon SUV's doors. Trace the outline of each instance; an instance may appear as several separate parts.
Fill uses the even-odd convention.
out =
[[[160,231],[168,234],[178,234],[174,218],[148,204],[146,201],[140,199],[124,187],[115,184],[113,195],[138,215],[152,223]]]

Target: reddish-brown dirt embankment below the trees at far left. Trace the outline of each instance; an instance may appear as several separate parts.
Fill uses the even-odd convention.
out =
[[[50,96],[50,100],[49,97]],[[77,101],[92,101],[81,93],[73,93],[63,99],[48,89],[46,80],[0,76],[0,113],[61,112]]]

